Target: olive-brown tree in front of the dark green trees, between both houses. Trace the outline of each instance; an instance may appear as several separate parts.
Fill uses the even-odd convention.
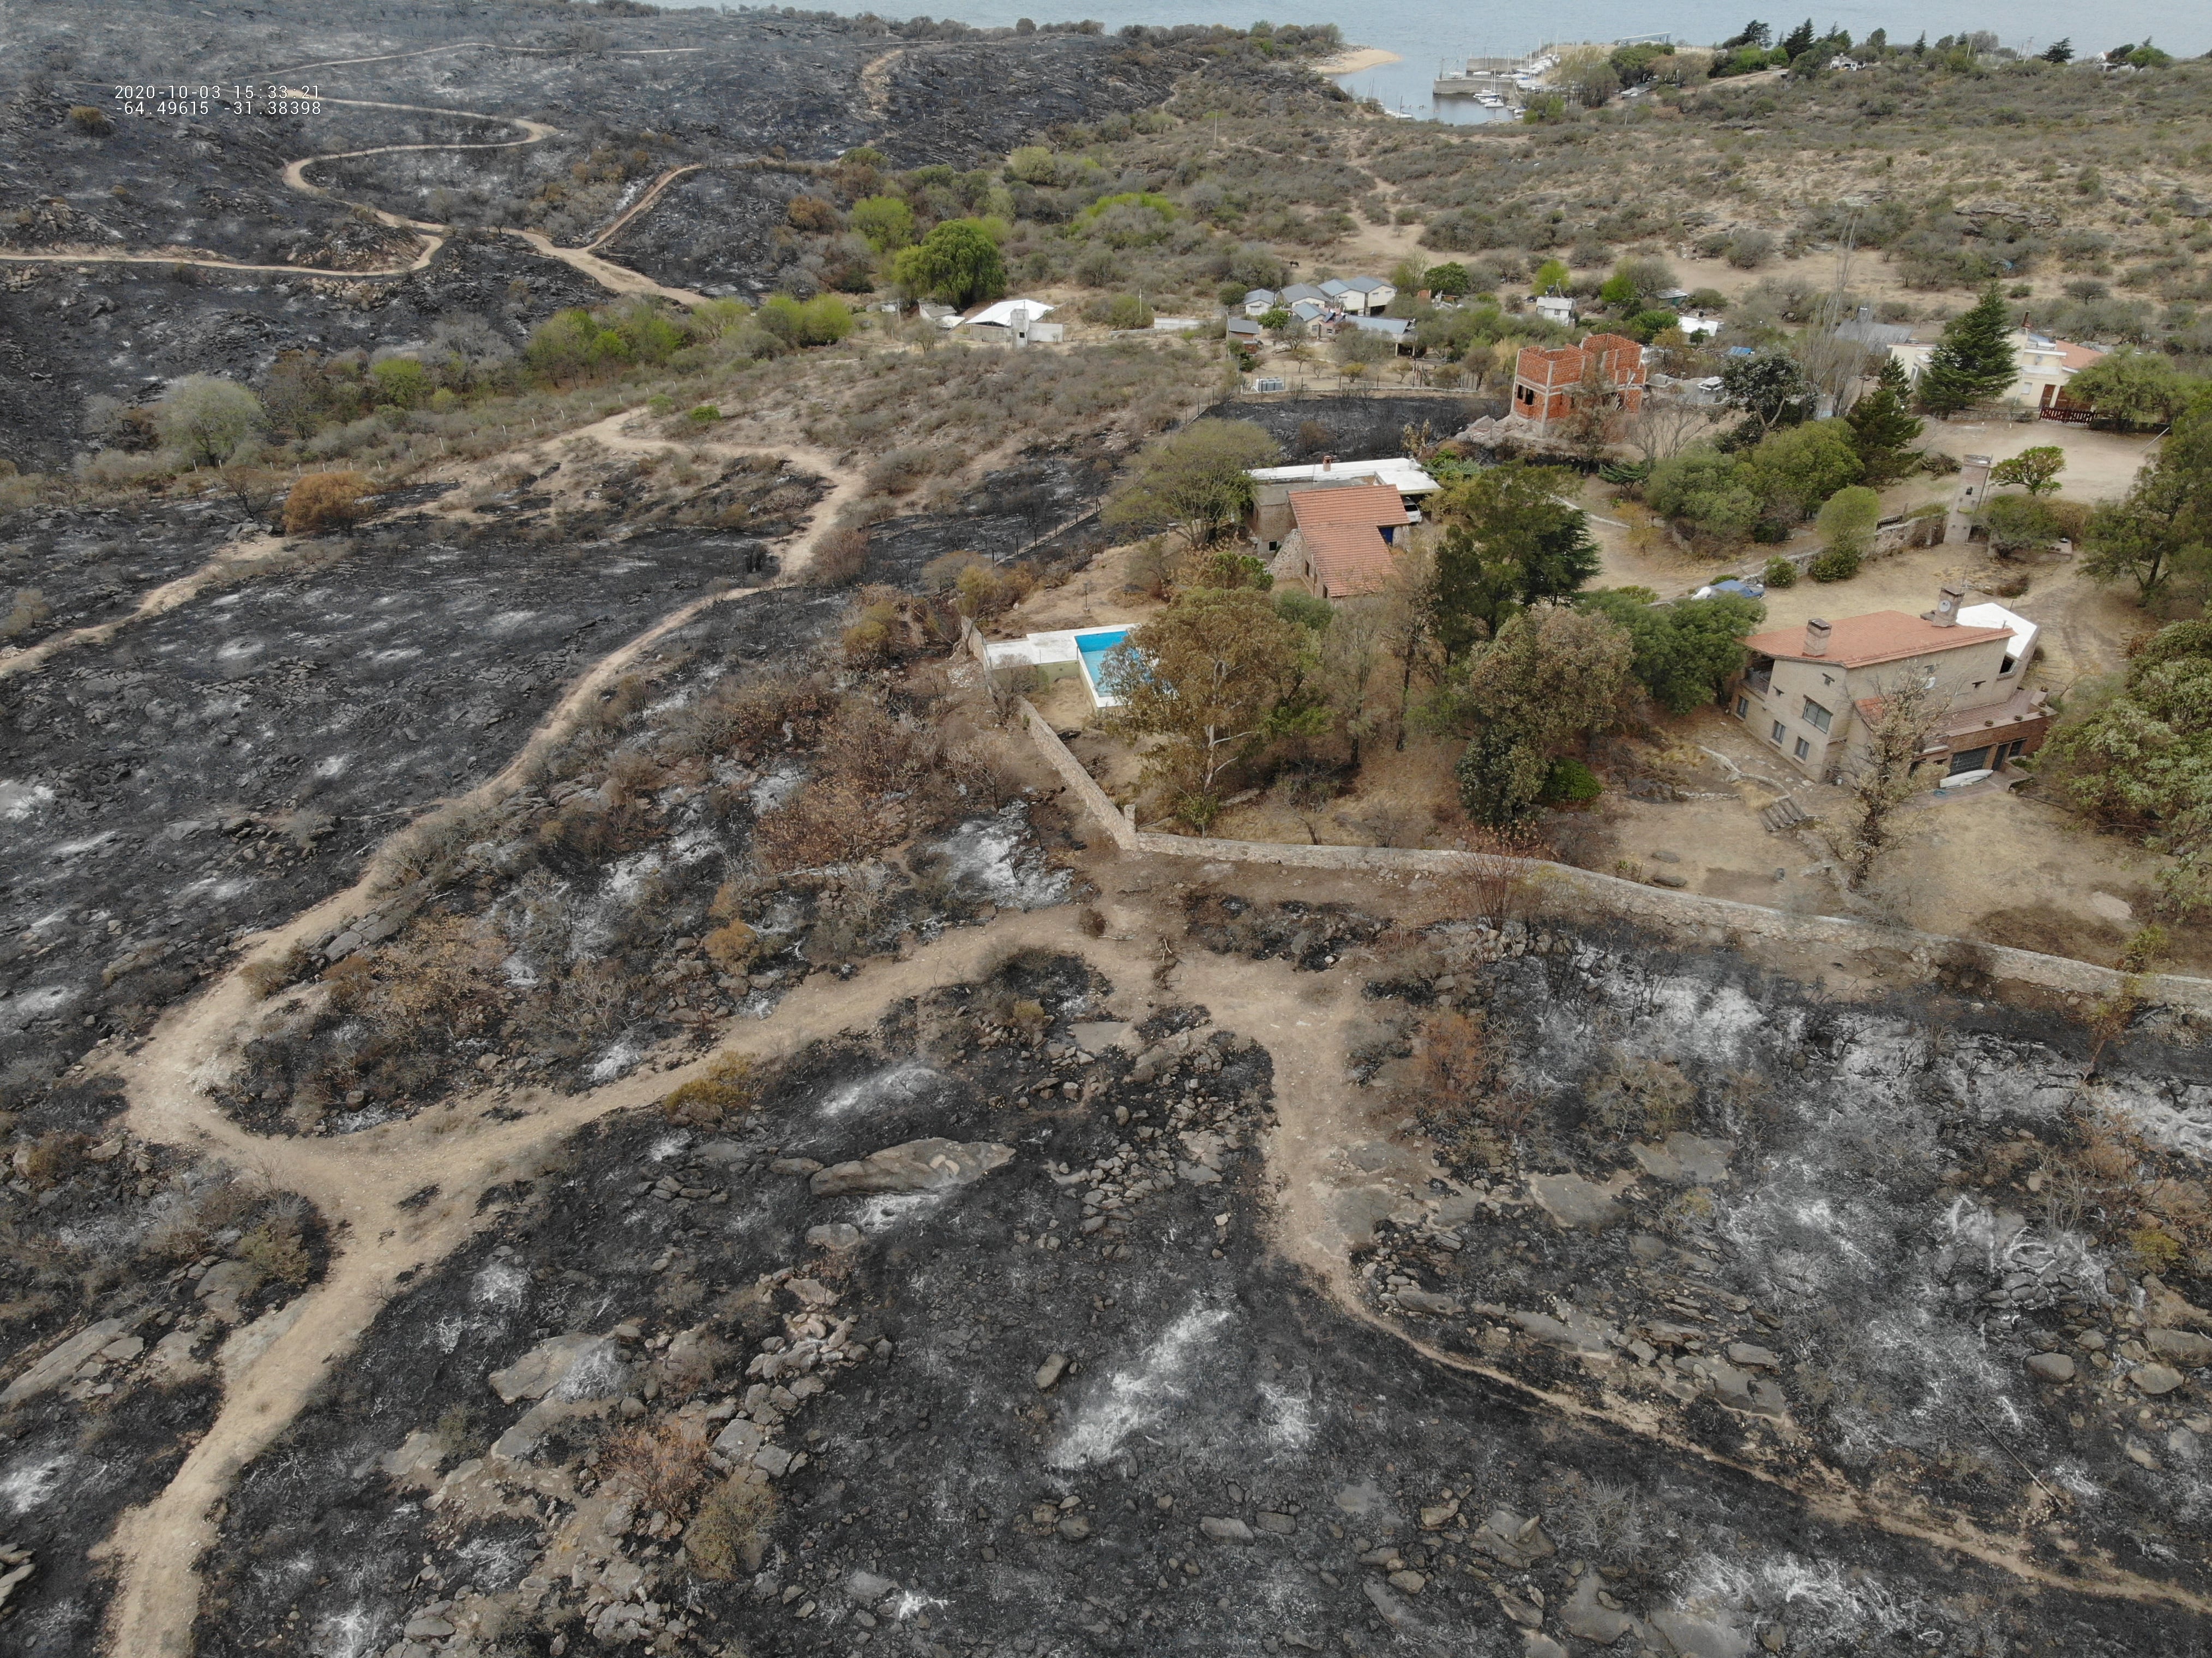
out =
[[[1619,716],[1635,643],[1610,617],[1564,604],[1522,610],[1451,688],[1449,716],[1473,734],[1455,767],[1478,822],[1504,825],[1544,794],[1553,758]]]

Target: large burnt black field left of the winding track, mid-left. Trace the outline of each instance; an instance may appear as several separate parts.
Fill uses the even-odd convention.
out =
[[[312,906],[440,796],[495,772],[595,659],[745,579],[719,537],[635,546],[378,526],[327,568],[210,595],[15,681],[0,727],[11,1090]],[[810,643],[801,595],[739,601],[732,648]]]

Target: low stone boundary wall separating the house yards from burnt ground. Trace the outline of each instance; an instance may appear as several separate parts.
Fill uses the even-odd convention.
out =
[[[1141,851],[1157,858],[1194,858],[1214,864],[1334,869],[1398,880],[1411,875],[1464,875],[1495,862],[1489,856],[1478,858],[1464,851],[1429,851],[1420,847],[1296,847],[1274,840],[1192,840],[1190,836],[1146,833],[1130,820],[1130,814],[1106,796],[1097,778],[1068,754],[1068,745],[1060,741],[1060,734],[1026,701],[1022,703],[1022,718],[1046,765],[1060,774],[1082,809],[1113,836],[1113,842],[1121,851]],[[1730,937],[1763,937],[1785,944],[1827,944],[1847,951],[1891,951],[1931,973],[1964,944],[1975,951],[1980,964],[1997,979],[2013,979],[2077,997],[2106,997],[2128,984],[2128,975],[2115,968],[2075,962],[2064,955],[2013,951],[2002,944],[1975,944],[1942,933],[1882,926],[1880,922],[1858,922],[1845,915],[1798,915],[1794,911],[1767,909],[1765,904],[1743,904],[1732,898],[1705,898],[1703,893],[1646,886],[1644,882],[1604,875],[1595,869],[1575,869],[1535,858],[1511,862],[1520,862],[1540,882],[1540,891],[1553,906],[1573,909],[1579,904],[1606,915],[1624,915],[1670,928],[1701,944],[1723,944]],[[2143,1001],[2212,1012],[2212,979],[2150,973],[2139,975],[2135,988]]]

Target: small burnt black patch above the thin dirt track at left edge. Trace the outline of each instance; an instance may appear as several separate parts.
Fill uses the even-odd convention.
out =
[[[24,628],[0,646],[126,617],[164,581],[195,570],[239,533],[239,508],[197,502],[122,502],[93,511],[13,513],[0,522],[0,599],[35,592]]]

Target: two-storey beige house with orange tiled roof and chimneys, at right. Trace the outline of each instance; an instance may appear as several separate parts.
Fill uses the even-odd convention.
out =
[[[1792,767],[1827,783],[1858,767],[1882,699],[1907,685],[1942,707],[1924,758],[1944,783],[2033,754],[2051,730],[2046,692],[2024,683],[2037,628],[2002,604],[1962,606],[1962,597],[1944,588],[1922,617],[1874,610],[1754,632],[1730,712]]]

